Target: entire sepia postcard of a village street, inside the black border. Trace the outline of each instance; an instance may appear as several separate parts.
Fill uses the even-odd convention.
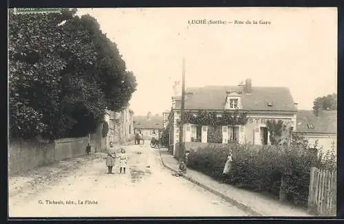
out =
[[[336,8],[8,12],[11,218],[336,216]]]

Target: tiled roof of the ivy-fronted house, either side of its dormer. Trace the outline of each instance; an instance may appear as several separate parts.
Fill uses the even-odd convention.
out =
[[[238,90],[239,86],[204,86],[200,88],[186,88],[185,92],[192,95],[185,97],[186,110],[223,110],[226,92]],[[177,98],[180,100],[180,97]],[[268,103],[272,103],[269,106]],[[241,94],[244,110],[296,111],[294,99],[286,87],[252,87],[250,94]],[[176,102],[180,108],[180,102]]]

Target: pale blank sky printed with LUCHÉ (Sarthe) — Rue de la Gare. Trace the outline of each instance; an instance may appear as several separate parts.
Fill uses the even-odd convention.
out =
[[[80,8],[77,14],[96,18],[136,75],[129,101],[135,115],[171,109],[182,58],[186,88],[250,78],[252,86],[288,87],[301,110],[337,92],[336,8]]]

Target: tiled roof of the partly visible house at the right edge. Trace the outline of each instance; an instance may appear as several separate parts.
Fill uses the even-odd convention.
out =
[[[297,112],[297,132],[336,134],[337,111],[324,110],[319,112],[319,116],[316,116],[313,110],[299,110]]]

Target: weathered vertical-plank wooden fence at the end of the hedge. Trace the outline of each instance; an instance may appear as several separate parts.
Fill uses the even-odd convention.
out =
[[[312,167],[308,208],[321,216],[336,216],[336,173]]]

